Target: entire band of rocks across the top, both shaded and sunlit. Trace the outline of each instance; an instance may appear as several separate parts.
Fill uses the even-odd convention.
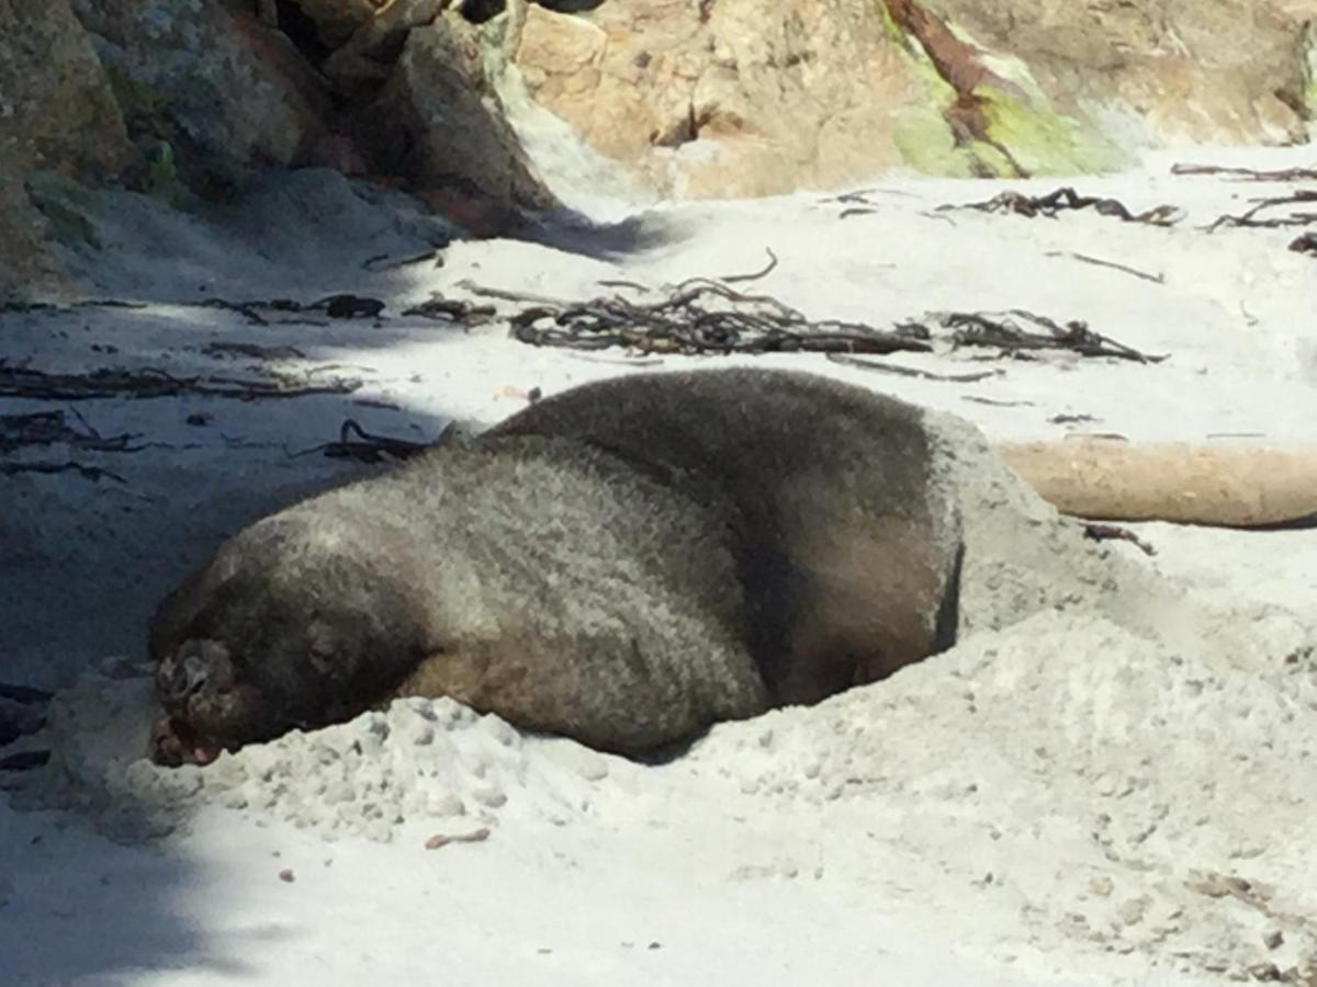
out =
[[[660,196],[1100,171],[1304,139],[1317,0],[0,0],[0,291],[58,283],[79,183],[320,164],[512,232],[557,205],[532,112],[549,179]]]

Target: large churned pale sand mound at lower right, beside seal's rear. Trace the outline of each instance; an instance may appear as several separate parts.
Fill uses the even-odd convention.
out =
[[[947,923],[985,944],[1305,970],[1317,634],[1233,617],[1263,645],[1238,663],[1040,613],[813,709],[723,724],[689,761],[757,797],[863,813],[873,842],[849,866],[898,873],[911,903],[957,901]]]

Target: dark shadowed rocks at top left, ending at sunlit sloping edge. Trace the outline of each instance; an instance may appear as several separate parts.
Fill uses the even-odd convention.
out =
[[[95,253],[95,187],[190,208],[317,164],[479,233],[552,207],[493,96],[493,47],[444,7],[0,0],[0,296],[57,292],[57,242]]]

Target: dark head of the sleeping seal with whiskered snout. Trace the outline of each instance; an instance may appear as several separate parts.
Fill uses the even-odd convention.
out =
[[[151,622],[161,765],[344,719],[433,647],[387,532],[275,516],[229,541]]]

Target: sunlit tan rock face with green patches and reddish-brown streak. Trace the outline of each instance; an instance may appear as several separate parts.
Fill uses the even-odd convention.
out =
[[[533,99],[660,193],[778,192],[898,164],[1098,171],[1142,145],[1304,139],[1317,116],[1317,0],[508,11]]]

